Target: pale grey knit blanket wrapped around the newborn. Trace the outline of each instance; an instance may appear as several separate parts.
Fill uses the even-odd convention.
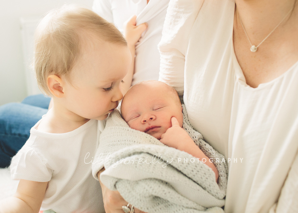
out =
[[[168,147],[145,132],[131,129],[119,110],[109,115],[100,135],[92,174],[105,167],[100,180],[136,208],[148,213],[224,212],[228,168],[223,155],[203,140],[188,121],[183,128],[197,146],[213,159],[215,174],[187,152]],[[182,143],[182,142],[181,142]]]

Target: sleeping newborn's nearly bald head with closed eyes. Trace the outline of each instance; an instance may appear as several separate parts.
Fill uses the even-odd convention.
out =
[[[161,81],[142,81],[132,86],[121,103],[122,118],[132,128],[160,140],[172,126],[171,118],[183,123],[177,91]]]

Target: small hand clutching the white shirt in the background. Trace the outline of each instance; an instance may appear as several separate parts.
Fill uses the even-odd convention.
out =
[[[124,37],[128,46],[135,45],[139,41],[142,33],[147,29],[148,24],[143,23],[136,26],[136,16],[131,17],[124,23]]]

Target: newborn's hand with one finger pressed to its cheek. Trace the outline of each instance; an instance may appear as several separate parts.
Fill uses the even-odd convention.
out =
[[[171,118],[172,126],[162,134],[160,142],[167,146],[184,151],[184,147],[195,145],[193,139],[180,127],[177,118]]]

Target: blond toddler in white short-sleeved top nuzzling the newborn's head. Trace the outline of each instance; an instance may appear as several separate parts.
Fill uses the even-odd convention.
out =
[[[63,6],[40,21],[34,69],[53,106],[13,157],[11,176],[20,182],[0,212],[105,212],[90,159],[131,61],[122,34],[91,10]]]

